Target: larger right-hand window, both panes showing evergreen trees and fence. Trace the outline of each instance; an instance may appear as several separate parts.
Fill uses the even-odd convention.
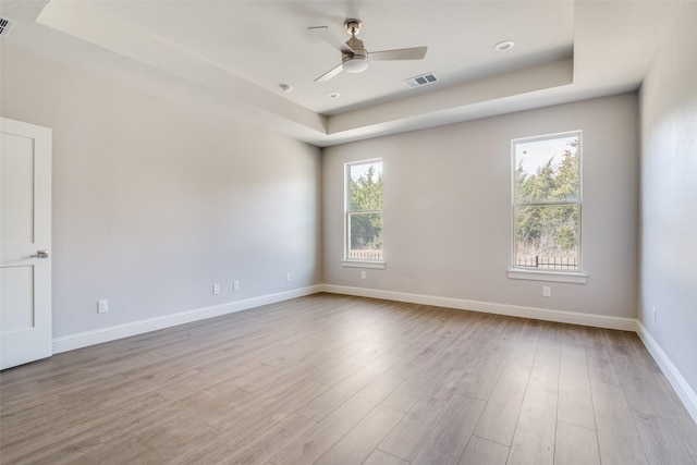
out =
[[[580,132],[512,140],[514,271],[580,273]]]

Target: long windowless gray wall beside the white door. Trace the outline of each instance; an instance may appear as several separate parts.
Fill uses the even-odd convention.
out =
[[[53,130],[54,338],[320,282],[318,148],[8,46],[1,86]]]

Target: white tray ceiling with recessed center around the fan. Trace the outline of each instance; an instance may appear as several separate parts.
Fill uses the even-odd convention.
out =
[[[680,3],[2,0],[0,15],[16,23],[4,42],[328,146],[636,89]],[[368,51],[426,58],[315,83],[341,57],[307,27],[347,39],[347,17]],[[403,83],[424,73],[440,81]]]

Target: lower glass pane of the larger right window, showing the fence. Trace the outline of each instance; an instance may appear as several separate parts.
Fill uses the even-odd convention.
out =
[[[515,207],[515,267],[578,271],[579,209]]]

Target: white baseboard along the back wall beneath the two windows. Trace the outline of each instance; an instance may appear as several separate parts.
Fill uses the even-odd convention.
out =
[[[396,302],[408,302],[411,304],[433,305],[437,307],[484,311],[487,314],[508,315],[512,317],[531,318],[536,320],[616,329],[621,331],[636,331],[637,322],[635,318],[582,314],[578,311],[562,311],[550,308],[523,307],[519,305],[467,301],[464,298],[437,297],[433,295],[408,294],[403,292],[382,291],[377,289],[350,287],[333,284],[323,284],[321,287],[323,292],[332,294],[345,294]]]

